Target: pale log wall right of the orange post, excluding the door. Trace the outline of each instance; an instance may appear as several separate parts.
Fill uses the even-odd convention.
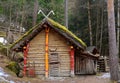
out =
[[[58,53],[59,56],[59,76],[70,76],[70,55],[69,45],[66,39],[50,30],[49,34],[49,54],[52,52]],[[52,69],[51,69],[52,70]]]

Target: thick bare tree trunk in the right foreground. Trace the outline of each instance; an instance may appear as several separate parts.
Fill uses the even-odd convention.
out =
[[[119,63],[115,34],[114,0],[107,1],[107,9],[108,9],[110,74],[111,80],[115,81],[119,80]]]

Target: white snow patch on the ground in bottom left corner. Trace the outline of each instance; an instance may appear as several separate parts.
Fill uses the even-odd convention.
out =
[[[6,80],[5,78],[6,77],[9,77],[8,74],[6,74],[3,69],[0,67],[0,83],[15,83],[14,81],[12,80]]]

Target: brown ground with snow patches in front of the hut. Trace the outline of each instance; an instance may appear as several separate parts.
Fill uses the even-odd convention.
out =
[[[109,73],[99,73],[97,75],[85,75],[71,77],[51,77],[49,79],[40,78],[18,78],[5,66],[10,62],[8,58],[0,55],[0,83],[111,83]]]

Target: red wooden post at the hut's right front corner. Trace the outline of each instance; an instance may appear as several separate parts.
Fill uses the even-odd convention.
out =
[[[71,71],[71,77],[74,77],[74,48],[73,46],[70,47],[70,71]]]

